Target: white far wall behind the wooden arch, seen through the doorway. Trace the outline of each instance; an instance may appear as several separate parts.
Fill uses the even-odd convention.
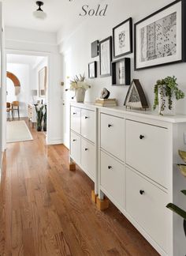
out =
[[[13,81],[7,78],[6,91],[8,92],[8,95],[6,96],[6,100],[10,103],[12,103],[13,100],[18,100],[20,103],[20,117],[27,117],[30,95],[30,66],[18,63],[8,63],[7,71],[13,73],[19,79],[20,93],[15,95]],[[17,118],[17,111],[15,111],[15,117]]]

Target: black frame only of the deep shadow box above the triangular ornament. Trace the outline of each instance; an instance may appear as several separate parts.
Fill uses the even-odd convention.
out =
[[[125,84],[116,83],[116,64],[118,62],[125,62]],[[112,86],[122,86],[131,84],[131,59],[130,58],[120,58],[117,61],[112,62]]]

